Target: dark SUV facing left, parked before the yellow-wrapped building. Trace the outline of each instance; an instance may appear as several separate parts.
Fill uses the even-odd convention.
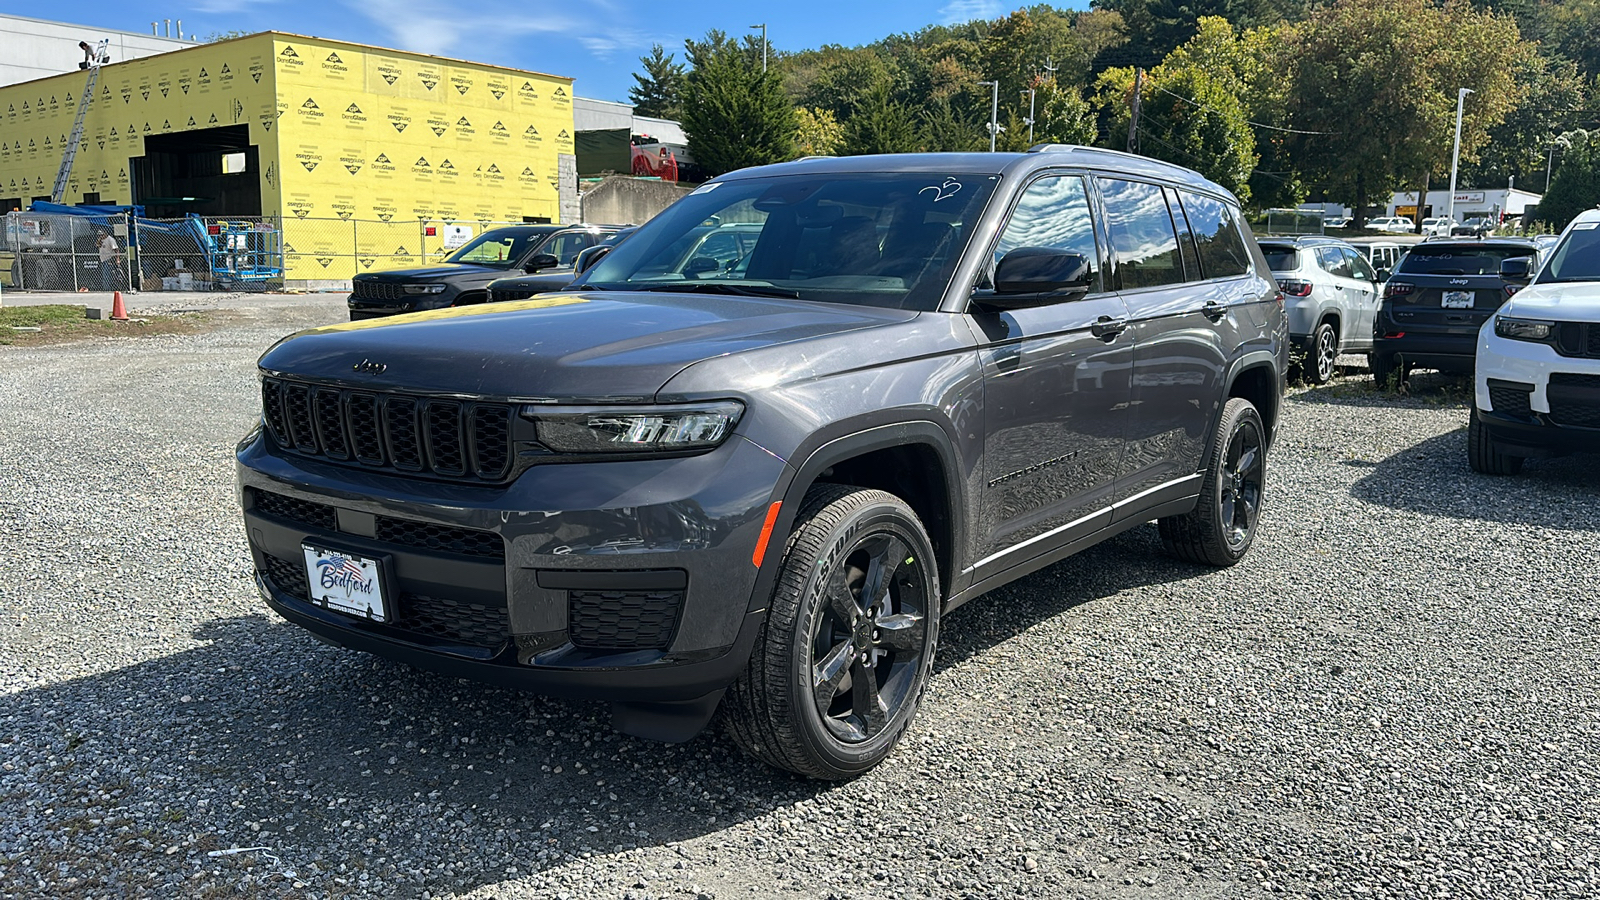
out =
[[[350,319],[374,319],[488,299],[490,282],[506,272],[571,272],[578,251],[619,226],[507,226],[486,231],[434,266],[360,272],[350,279]]]

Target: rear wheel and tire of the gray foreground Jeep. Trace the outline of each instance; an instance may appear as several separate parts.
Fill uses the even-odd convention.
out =
[[[1211,437],[1200,501],[1157,520],[1162,543],[1179,559],[1234,565],[1250,552],[1267,484],[1267,429],[1243,397],[1229,399]]]

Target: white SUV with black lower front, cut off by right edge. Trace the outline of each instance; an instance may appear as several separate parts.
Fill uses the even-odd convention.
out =
[[[1507,259],[1504,277],[1534,274]],[[1467,463],[1512,476],[1530,456],[1600,452],[1600,210],[1566,226],[1549,263],[1478,331]]]

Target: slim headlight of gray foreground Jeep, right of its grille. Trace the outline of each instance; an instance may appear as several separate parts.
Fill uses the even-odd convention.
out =
[[[539,444],[558,453],[667,453],[710,450],[739,424],[744,404],[717,400],[670,407],[522,408]]]

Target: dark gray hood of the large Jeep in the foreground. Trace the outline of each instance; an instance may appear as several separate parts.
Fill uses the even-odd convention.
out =
[[[259,365],[274,375],[371,391],[643,400],[704,359],[915,315],[742,296],[554,293],[312,328],[274,344]]]

